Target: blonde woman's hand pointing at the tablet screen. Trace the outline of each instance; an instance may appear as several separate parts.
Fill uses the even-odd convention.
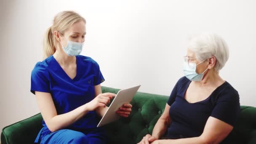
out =
[[[94,111],[98,107],[106,107],[110,102],[110,99],[115,96],[115,93],[101,93],[96,96],[92,101],[88,102],[86,105],[86,110]]]

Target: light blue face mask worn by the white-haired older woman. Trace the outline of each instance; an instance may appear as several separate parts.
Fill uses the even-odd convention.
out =
[[[204,61],[202,61],[202,62],[204,62]],[[200,62],[199,64],[201,64],[202,62]],[[187,62],[184,61],[183,72],[189,80],[202,81],[203,75],[207,71],[208,68],[205,69],[205,71],[202,72],[201,74],[197,74],[197,72],[196,72],[197,65],[198,64],[195,64],[195,63],[189,63],[188,64]]]

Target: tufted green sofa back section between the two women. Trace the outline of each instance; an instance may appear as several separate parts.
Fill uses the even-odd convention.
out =
[[[117,93],[119,89],[101,87],[102,93]],[[128,118],[105,125],[112,144],[136,144],[143,136],[152,133],[155,123],[162,115],[168,96],[137,92]]]

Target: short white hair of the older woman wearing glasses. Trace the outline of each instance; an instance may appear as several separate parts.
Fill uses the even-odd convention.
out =
[[[196,59],[203,61],[215,56],[215,70],[219,72],[229,59],[229,48],[225,40],[213,33],[203,33],[192,37],[188,49],[195,52]]]

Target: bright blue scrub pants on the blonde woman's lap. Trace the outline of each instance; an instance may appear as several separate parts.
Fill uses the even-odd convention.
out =
[[[43,136],[40,144],[107,144],[107,136],[101,133],[82,133],[62,129]]]

